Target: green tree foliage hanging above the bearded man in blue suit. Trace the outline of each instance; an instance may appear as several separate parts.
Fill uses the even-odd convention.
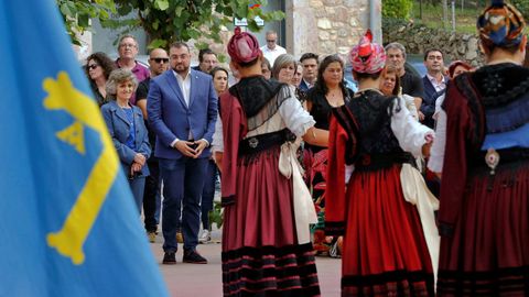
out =
[[[284,18],[282,11],[264,13],[266,0],[114,0],[118,13],[127,15],[138,12],[138,18],[107,20],[106,26],[126,25],[129,30],[142,28],[150,37],[149,47],[168,46],[174,41],[188,41],[205,37],[222,42],[220,29],[233,23],[233,18],[247,18],[250,31],[259,31],[255,18],[266,22]],[[252,4],[252,9],[249,8]],[[206,44],[197,44],[205,47]]]

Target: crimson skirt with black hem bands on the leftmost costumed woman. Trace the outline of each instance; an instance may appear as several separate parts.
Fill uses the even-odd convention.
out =
[[[279,154],[276,146],[238,160],[235,204],[224,212],[224,296],[320,296],[314,251],[298,244],[292,182],[279,172]]]

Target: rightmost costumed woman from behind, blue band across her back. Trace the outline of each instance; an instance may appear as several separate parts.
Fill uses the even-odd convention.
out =
[[[528,296],[529,70],[521,13],[477,19],[485,65],[446,90],[439,296]]]

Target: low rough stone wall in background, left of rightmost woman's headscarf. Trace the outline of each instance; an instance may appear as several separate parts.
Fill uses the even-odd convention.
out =
[[[453,34],[413,23],[385,24],[382,32],[384,44],[399,42],[409,54],[423,54],[429,48],[440,48],[447,57],[445,59],[462,59],[473,66],[483,64],[477,34]]]

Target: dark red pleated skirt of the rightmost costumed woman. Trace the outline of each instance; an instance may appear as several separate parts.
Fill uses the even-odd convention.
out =
[[[488,173],[469,174],[454,234],[441,238],[439,296],[529,296],[529,161]]]

